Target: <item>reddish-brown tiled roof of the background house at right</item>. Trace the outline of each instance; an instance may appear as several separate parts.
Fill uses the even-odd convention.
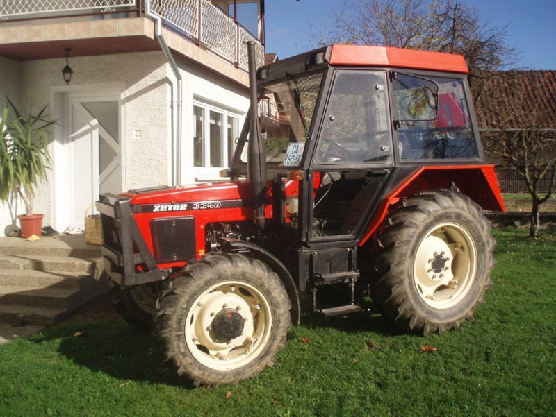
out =
[[[500,71],[473,85],[480,129],[556,128],[556,71]]]

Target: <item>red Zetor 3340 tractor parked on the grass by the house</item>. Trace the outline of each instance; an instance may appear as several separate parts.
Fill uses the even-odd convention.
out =
[[[272,365],[300,293],[322,316],[370,294],[418,334],[471,320],[495,265],[482,210],[505,207],[464,58],[332,45],[256,71],[249,49],[228,180],[100,196],[118,311],[196,385]]]

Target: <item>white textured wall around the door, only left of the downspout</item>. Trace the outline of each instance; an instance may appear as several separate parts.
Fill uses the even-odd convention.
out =
[[[122,189],[167,184],[170,178],[170,80],[161,52],[126,53],[109,56],[70,58],[74,74],[70,85],[63,82],[63,59],[22,62],[19,85],[25,103],[35,110],[49,104],[51,114],[60,114],[55,99],[60,94],[95,94],[103,89],[120,87],[120,139],[122,142]],[[28,104],[27,104],[28,105]],[[64,126],[61,126],[63,130]],[[60,131],[60,126],[57,128]],[[53,159],[62,137],[51,142]],[[54,167],[56,171],[56,167]],[[49,182],[38,187],[35,212],[44,213],[44,224],[51,224],[56,192],[49,173]],[[20,205],[19,207],[22,207]],[[18,214],[23,212],[18,209]],[[10,223],[8,207],[0,209],[0,225]],[[58,228],[63,225],[57,225]]]

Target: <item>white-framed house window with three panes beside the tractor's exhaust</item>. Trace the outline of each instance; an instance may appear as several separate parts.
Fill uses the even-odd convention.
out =
[[[193,105],[195,134],[193,135],[193,166],[229,167],[239,136],[239,116],[213,105]]]

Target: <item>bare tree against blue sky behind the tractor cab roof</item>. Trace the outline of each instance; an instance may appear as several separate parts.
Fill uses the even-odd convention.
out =
[[[454,0],[343,0],[332,11],[318,44],[333,42],[398,46],[460,53],[471,78],[516,62],[505,44],[507,27],[482,24],[477,10]]]

